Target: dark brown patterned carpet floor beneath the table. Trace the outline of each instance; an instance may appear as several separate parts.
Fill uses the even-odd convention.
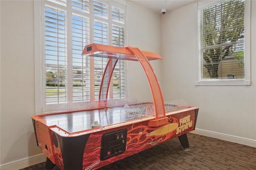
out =
[[[256,170],[254,147],[192,133],[188,140],[189,151],[174,138],[98,170]],[[21,170],[45,170],[44,164]]]

